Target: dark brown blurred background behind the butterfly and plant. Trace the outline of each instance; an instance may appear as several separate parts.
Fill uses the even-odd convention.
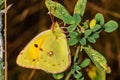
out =
[[[72,14],[77,0],[55,1]],[[7,21],[8,80],[54,80],[51,74],[44,71],[16,65],[16,57],[25,45],[38,33],[50,28],[45,0],[7,0],[7,4],[13,4]],[[106,22],[113,19],[120,25],[119,0],[88,0],[83,20],[91,20],[98,12],[104,15]],[[101,32],[93,47],[103,53],[112,69],[106,80],[120,80],[120,26],[112,33]]]

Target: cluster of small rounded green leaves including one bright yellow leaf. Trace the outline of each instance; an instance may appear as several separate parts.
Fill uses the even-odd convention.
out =
[[[70,46],[80,44],[82,46],[89,43],[96,43],[96,39],[100,37],[100,32],[113,32],[118,28],[118,24],[114,20],[110,20],[104,23],[104,17],[101,13],[97,13],[95,18],[90,22],[83,22],[83,26],[78,26],[79,30],[76,30],[76,25],[70,25],[68,31],[70,33],[70,39],[68,44]]]

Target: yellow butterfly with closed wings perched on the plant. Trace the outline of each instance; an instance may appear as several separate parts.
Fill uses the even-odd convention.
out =
[[[16,63],[25,68],[48,73],[64,72],[71,64],[66,36],[54,22],[49,30],[39,33],[19,53]]]

